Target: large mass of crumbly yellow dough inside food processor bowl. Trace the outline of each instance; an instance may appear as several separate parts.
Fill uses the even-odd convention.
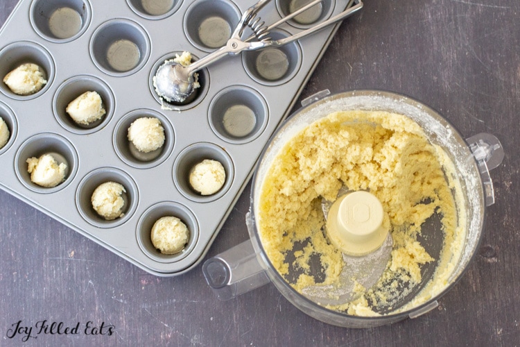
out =
[[[451,162],[447,158],[404,115],[335,112],[306,126],[272,160],[255,211],[261,243],[273,266],[300,292],[317,283],[338,283],[343,257],[324,235],[322,198],[334,201],[343,186],[370,191],[390,219],[391,260],[374,287],[358,289],[354,301],[329,308],[362,316],[396,312],[401,300],[422,283],[422,266],[435,261],[417,239],[424,221],[433,214],[441,216],[442,258],[457,259],[453,253],[460,247],[451,242],[465,238],[456,237],[463,230],[451,194],[455,187],[443,171]],[[296,249],[297,245],[304,247]],[[322,266],[319,280],[309,262],[316,256]],[[447,276],[446,262],[438,261],[435,273]],[[445,285],[447,277],[439,276],[431,282]],[[422,303],[438,290],[413,302]]]

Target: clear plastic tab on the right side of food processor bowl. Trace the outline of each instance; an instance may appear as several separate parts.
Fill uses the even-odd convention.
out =
[[[480,133],[466,139],[469,149],[478,164],[482,177],[486,206],[495,203],[494,187],[489,171],[498,167],[504,158],[504,149],[499,139],[488,133]]]

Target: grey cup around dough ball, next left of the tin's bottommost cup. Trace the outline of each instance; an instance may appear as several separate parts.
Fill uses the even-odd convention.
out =
[[[92,207],[92,193],[94,190],[105,182],[115,182],[123,185],[126,192],[123,192],[123,215],[117,219],[107,221],[101,217]],[[139,192],[134,180],[120,169],[113,167],[102,167],[91,171],[81,180],[76,192],[76,207],[81,217],[88,223],[98,228],[114,228],[125,223],[132,217],[137,209],[139,201]]]

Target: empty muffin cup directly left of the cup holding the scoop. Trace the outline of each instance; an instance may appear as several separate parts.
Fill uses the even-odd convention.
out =
[[[90,55],[105,74],[129,76],[146,64],[150,56],[150,37],[136,22],[112,19],[94,31]]]

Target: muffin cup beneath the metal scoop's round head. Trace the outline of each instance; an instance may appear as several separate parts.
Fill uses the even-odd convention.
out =
[[[157,74],[157,69],[161,65],[164,64],[167,60],[175,59],[176,56],[181,56],[182,51],[176,51],[172,53],[168,53],[165,56],[162,56],[155,62],[155,64],[152,67],[152,70],[150,71],[150,78],[148,80],[148,85],[150,87],[150,92],[152,93],[153,97],[159,105],[162,105],[162,109],[164,110],[175,110],[175,111],[182,111],[182,110],[189,110],[190,108],[194,108],[196,105],[198,105],[202,100],[204,100],[205,96],[207,95],[207,92],[209,90],[209,74],[207,72],[207,69],[202,69],[196,72],[198,74],[198,83],[200,84],[200,87],[196,88],[193,93],[189,96],[188,99],[186,99],[183,103],[175,103],[175,102],[168,102],[164,99],[162,99],[159,94],[157,94],[157,91],[155,90],[155,83],[154,83],[154,77],[155,74]],[[196,56],[191,55],[191,60],[195,61],[198,60]]]

